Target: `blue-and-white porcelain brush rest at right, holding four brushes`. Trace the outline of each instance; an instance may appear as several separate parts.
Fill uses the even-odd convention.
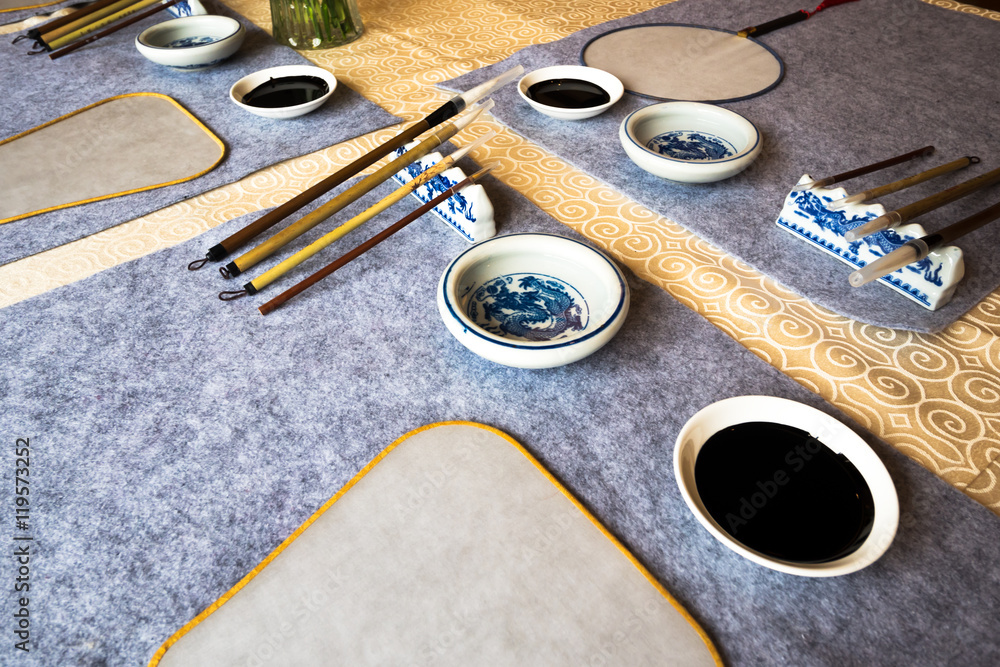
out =
[[[799,184],[812,181],[813,178],[805,174],[799,179]],[[864,203],[848,204],[836,211],[827,207],[830,202],[846,196],[844,188],[812,188],[790,192],[785,197],[785,204],[776,223],[785,231],[855,268],[861,268],[885,256],[911,239],[926,235],[923,227],[910,224],[848,242],[844,239],[847,230],[885,215],[886,210],[881,204]],[[937,310],[951,300],[964,275],[965,262],[961,248],[943,246],[921,261],[904,266],[876,282],[894,289],[928,310]],[[854,289],[849,286],[846,273],[844,288]]]

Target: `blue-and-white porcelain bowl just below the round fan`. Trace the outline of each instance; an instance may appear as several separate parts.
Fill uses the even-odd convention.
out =
[[[700,102],[663,102],[629,114],[618,139],[632,162],[681,183],[735,176],[757,158],[757,127],[738,113]]]

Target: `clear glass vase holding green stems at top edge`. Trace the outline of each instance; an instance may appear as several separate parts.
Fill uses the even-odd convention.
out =
[[[279,44],[329,49],[364,32],[358,0],[271,0],[271,27]]]

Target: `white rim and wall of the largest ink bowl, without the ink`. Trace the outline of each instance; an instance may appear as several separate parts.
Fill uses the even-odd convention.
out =
[[[722,429],[746,422],[769,421],[808,431],[814,438],[843,454],[858,469],[875,503],[871,533],[854,552],[827,563],[794,563],[747,548],[711,517],[698,495],[694,468],[705,442]],[[878,560],[896,535],[899,499],[889,472],[871,447],[845,424],[825,412],[784,398],[739,396],[713,403],[698,411],[681,429],[674,448],[674,475],[681,495],[698,521],[727,547],[759,565],[805,577],[835,577],[855,572]]]

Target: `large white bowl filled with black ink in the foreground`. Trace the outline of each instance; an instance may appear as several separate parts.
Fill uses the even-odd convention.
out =
[[[759,474],[760,470],[753,465],[747,465],[746,457],[757,457],[762,454],[762,446],[768,443],[746,437],[739,440],[739,446],[744,454],[730,458],[725,467],[725,489],[731,491],[731,496],[741,496],[737,505],[731,506],[731,512],[724,517],[715,515],[710,510],[712,500],[706,498],[705,492],[713,493],[710,476],[706,479],[705,472],[722,470],[724,461],[709,467],[698,474],[699,455],[709,440],[723,431],[752,423],[767,423],[768,426],[779,428],[791,427],[811,436],[801,448],[789,454],[780,465],[769,469],[768,474]],[[827,448],[835,460],[849,463],[853,468],[854,480],[863,480],[863,486],[871,495],[873,513],[870,523],[857,534],[857,538],[848,548],[831,553],[829,558],[805,560],[790,560],[777,557],[773,551],[755,549],[742,541],[745,529],[750,522],[766,522],[772,530],[772,535],[795,544],[801,544],[806,536],[822,531],[825,524],[821,517],[828,516],[819,507],[810,504],[809,498],[793,495],[799,516],[809,517],[811,525],[806,522],[786,519],[789,513],[783,513],[780,503],[787,501],[788,493],[795,494],[795,486],[802,484],[814,488],[815,496],[823,497],[830,487],[818,484],[815,476],[809,474],[810,460],[819,462],[816,458],[821,448]],[[740,460],[734,460],[740,459]],[[815,470],[815,469],[814,469]],[[794,574],[802,577],[835,577],[856,572],[865,568],[888,550],[896,536],[899,524],[899,498],[889,472],[878,455],[861,437],[846,424],[821,412],[809,405],[775,396],[737,396],[727,398],[702,408],[692,416],[680,433],[674,445],[674,475],[677,486],[688,509],[698,522],[724,545],[744,558],[763,565],[764,567]],[[733,480],[736,481],[733,481]],[[706,487],[702,487],[705,483]],[[859,487],[860,488],[860,487]],[[808,495],[808,494],[807,494]],[[834,509],[837,509],[834,506]],[[777,512],[777,513],[776,513]],[[868,518],[868,517],[866,517]],[[820,522],[820,523],[816,523]],[[743,532],[741,532],[743,531]]]

